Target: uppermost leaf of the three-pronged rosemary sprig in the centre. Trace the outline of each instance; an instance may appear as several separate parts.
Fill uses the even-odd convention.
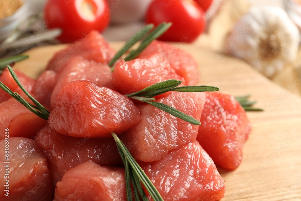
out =
[[[146,88],[144,88],[141,91],[137,91],[131,94],[127,94],[125,96],[127,97],[131,97],[131,96],[146,96],[152,93],[157,93],[158,91],[162,91],[162,90],[167,90],[167,89],[172,89],[176,86],[179,86],[182,83],[182,81],[178,81],[178,80],[166,80],[163,82],[159,82],[156,84],[153,84],[151,86],[148,86]]]

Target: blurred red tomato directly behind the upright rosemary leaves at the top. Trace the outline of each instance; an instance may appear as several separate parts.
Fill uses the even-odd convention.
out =
[[[154,0],[146,14],[146,23],[155,26],[172,22],[172,26],[159,40],[193,42],[203,32],[203,10],[192,0]]]

